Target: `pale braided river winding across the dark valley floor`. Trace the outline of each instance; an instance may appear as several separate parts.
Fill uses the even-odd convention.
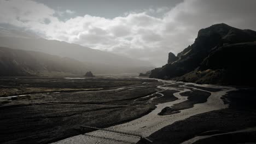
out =
[[[156,79],[158,80],[158,79]],[[158,80],[161,82],[164,82],[166,84],[176,83],[173,81],[165,81],[165,80]],[[190,91],[188,87],[185,85],[194,85],[194,86],[200,86],[200,87],[211,87],[211,88],[219,88],[222,89],[218,92],[210,92],[211,95],[207,99],[206,103],[202,104],[195,104],[194,107],[190,109],[181,110],[180,113],[175,113],[173,115],[166,115],[166,116],[159,116],[158,113],[161,112],[162,109],[164,109],[167,106],[172,106],[174,104],[181,103],[182,101],[187,100],[187,97],[183,97],[180,95],[180,93]],[[175,101],[162,103],[156,105],[156,109],[152,112],[148,113],[148,115],[145,115],[141,118],[135,119],[133,121],[115,125],[113,127],[109,127],[108,129],[114,129],[114,130],[127,130],[127,131],[135,131],[136,133],[139,133],[143,135],[144,137],[147,137],[151,134],[153,134],[155,131],[160,130],[161,128],[166,127],[167,125],[173,124],[174,122],[181,121],[185,118],[204,113],[209,112],[213,110],[219,110],[219,109],[225,109],[228,107],[228,105],[225,105],[223,101],[220,99],[223,95],[225,95],[229,91],[235,91],[236,89],[233,87],[224,87],[224,86],[214,86],[214,85],[197,85],[195,83],[185,83],[183,86],[179,86],[180,88],[173,88],[173,87],[163,87],[158,86],[158,88],[165,90],[178,90],[179,92],[174,93],[173,95],[177,97],[178,99]],[[193,88],[193,87],[190,87]],[[197,89],[197,88],[193,88]],[[204,91],[202,89],[198,89],[200,91]],[[208,92],[208,91],[206,91]],[[160,92],[157,92],[161,94]],[[55,144],[64,144],[64,143],[136,143],[138,142],[140,137],[136,136],[130,136],[125,134],[118,134],[113,133],[109,131],[103,131],[103,130],[96,130],[92,131],[91,133],[86,133],[84,135],[77,135],[73,137],[69,137],[67,139],[57,141]]]

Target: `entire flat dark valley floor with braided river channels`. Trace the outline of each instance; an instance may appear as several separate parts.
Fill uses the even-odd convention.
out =
[[[254,88],[127,77],[2,77],[0,85],[1,143],[148,143],[80,125],[153,143],[256,142]]]

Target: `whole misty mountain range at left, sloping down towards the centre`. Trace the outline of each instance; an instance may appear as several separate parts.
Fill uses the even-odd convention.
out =
[[[2,51],[0,55],[1,63],[5,65],[3,67],[2,64],[0,68],[2,71],[11,70],[9,75],[11,73],[12,75],[41,75],[41,70],[43,70],[44,73],[48,71],[49,75],[53,73],[50,71],[80,74],[82,71],[86,73],[88,70],[92,71],[94,74],[134,74],[146,72],[154,68],[152,64],[138,59],[90,49],[89,47],[80,46],[78,44],[46,40],[33,33],[3,27],[0,27],[0,46],[0,50]],[[16,51],[14,49],[22,51]],[[15,55],[5,55],[3,51],[8,51],[9,54],[15,53]],[[9,56],[8,62],[7,56]],[[19,71],[20,67],[16,67],[17,65],[10,62],[11,59],[15,60],[18,64],[23,64],[22,66],[20,65],[20,67],[22,67],[23,70],[26,69],[26,72]],[[28,61],[34,61],[34,63],[30,63],[30,70],[25,67],[28,65],[24,65],[24,62],[29,63]],[[51,65],[48,65],[49,67],[55,67],[55,69],[47,69],[49,67],[46,67],[46,61]],[[68,65],[70,63],[73,65]],[[74,67],[74,65],[77,67]],[[19,72],[14,72],[14,70]],[[7,73],[3,72],[1,74],[2,76],[7,75]]]

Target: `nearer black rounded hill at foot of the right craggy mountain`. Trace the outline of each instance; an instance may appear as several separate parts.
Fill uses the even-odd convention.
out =
[[[177,80],[252,86],[256,80],[255,54],[255,42],[222,46],[211,52],[197,69]]]

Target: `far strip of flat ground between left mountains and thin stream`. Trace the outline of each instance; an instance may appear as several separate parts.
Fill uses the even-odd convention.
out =
[[[86,79],[63,79],[63,77],[0,77],[0,97],[42,92],[97,91],[152,81],[155,80],[131,80],[130,78],[106,79],[102,77],[87,77]]]

